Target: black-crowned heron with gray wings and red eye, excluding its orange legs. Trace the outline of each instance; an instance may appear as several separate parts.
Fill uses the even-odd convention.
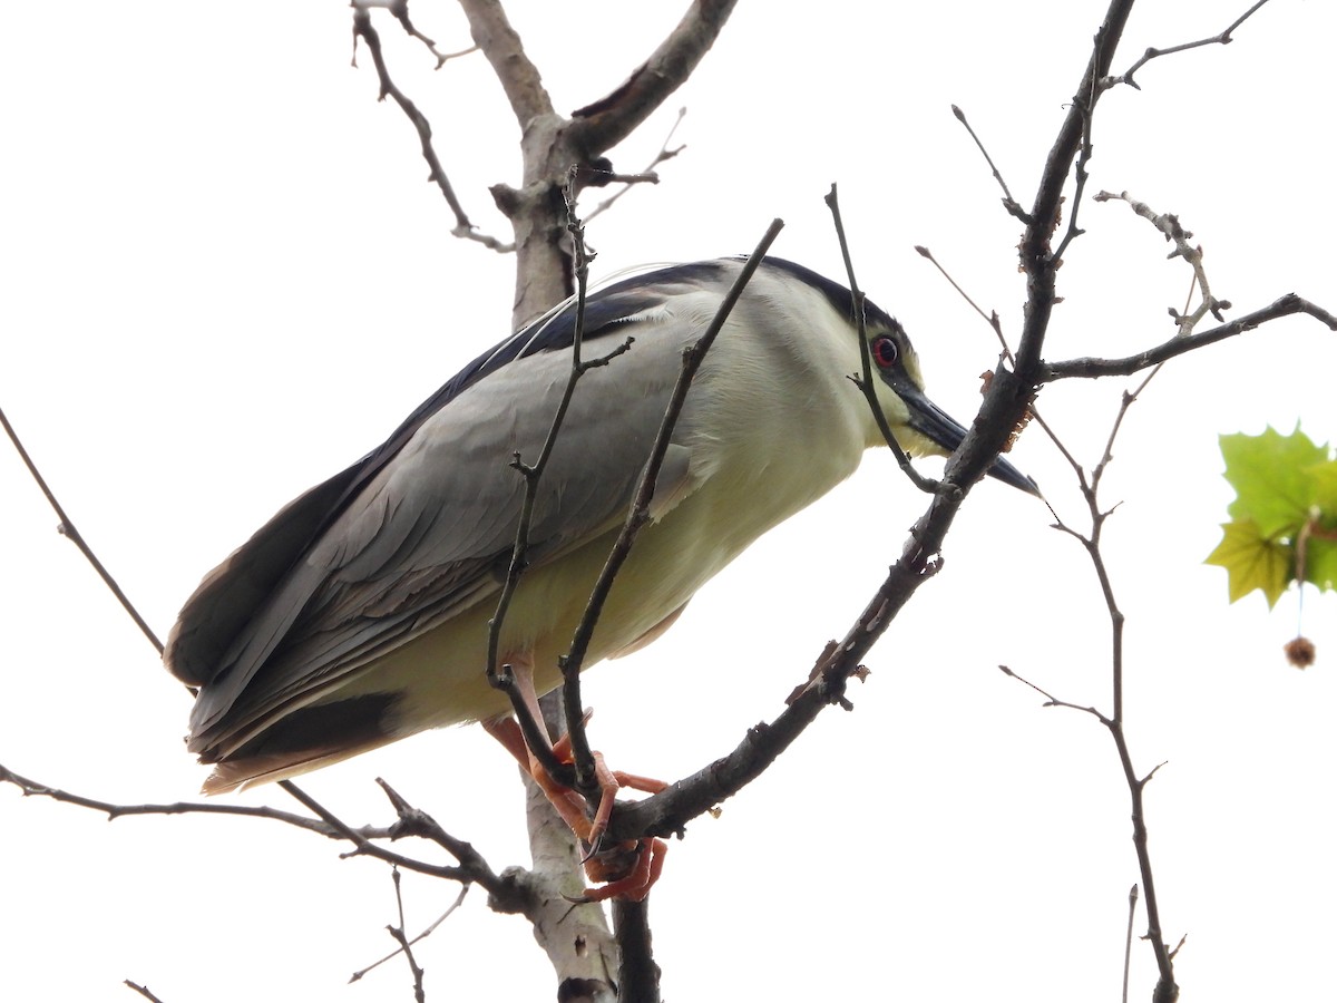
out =
[[[580,381],[539,481],[529,567],[500,655],[554,689],[627,514],[681,370],[742,266],[664,267],[594,293],[586,357],[631,349]],[[211,571],[167,642],[199,687],[189,748],[207,792],[290,777],[429,728],[505,715],[485,678],[488,621],[524,479],[571,370],[567,304],[467,365],[364,459],[283,508]],[[849,290],[767,259],[691,385],[651,506],[595,630],[588,663],[666,630],[753,540],[882,443],[849,378],[861,370]],[[923,393],[909,338],[865,304],[877,397],[910,455],[964,429]],[[991,473],[1034,484],[1005,460]]]

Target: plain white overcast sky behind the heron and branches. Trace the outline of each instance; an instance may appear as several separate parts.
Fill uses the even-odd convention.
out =
[[[683,3],[513,7],[570,111],[618,84]],[[1146,3],[1116,68],[1245,7]],[[787,9],[741,4],[693,80],[615,151],[639,169],[687,106],[687,150],[664,183],[591,225],[595,270],[745,251],[779,215],[775,253],[840,277],[821,201],[836,181],[862,284],[916,340],[935,400],[968,421],[996,342],[913,245],[1013,337],[1024,288],[1020,225],[948,106],[1029,203],[1103,4]],[[468,44],[451,4],[413,12],[444,49]],[[475,56],[433,74],[390,19],[378,27],[475,222],[507,235],[485,186],[516,179],[517,128],[491,71]],[[1140,92],[1102,102],[1090,193],[1178,213],[1235,313],[1292,290],[1337,309],[1334,35],[1332,4],[1274,0],[1234,44],[1157,60]],[[449,237],[414,134],[376,102],[370,58],[349,67],[341,4],[16,4],[7,37],[0,405],[166,635],[218,559],[505,334],[512,262]],[[1082,223],[1046,356],[1167,337],[1187,267],[1123,205],[1087,202]],[[1217,435],[1298,419],[1332,439],[1333,360],[1333,336],[1293,318],[1173,364],[1107,479],[1106,503],[1122,503],[1107,556],[1128,615],[1128,736],[1139,770],[1167,762],[1147,810],[1165,932],[1189,936],[1185,999],[1332,992],[1334,599],[1308,596],[1320,654],[1298,673],[1281,654],[1296,596],[1271,615],[1257,594],[1227,607],[1225,572],[1201,562],[1231,496]],[[1059,385],[1042,408],[1091,464],[1124,386]],[[1013,459],[1080,520],[1039,429]],[[191,798],[203,769],[180,748],[189,698],[52,531],[8,448],[0,504],[0,762],[111,801]],[[924,506],[872,455],[662,642],[586,677],[595,745],[668,780],[731,749],[844,633]],[[1112,744],[995,667],[1108,710],[1103,603],[1050,522],[981,485],[944,574],[870,655],[856,713],[824,714],[718,821],[674,843],[652,897],[667,998],[1118,998],[1138,872]],[[528,863],[513,766],[479,729],[302,782],[353,822],[384,821],[376,776],[495,868]],[[295,808],[277,789],[239,800]],[[344,986],[390,947],[392,887],[382,865],[341,861],[318,837],[201,816],[108,824],[11,788],[0,832],[8,999],[128,1000],[126,978],[167,1003],[410,999],[398,964]],[[405,889],[410,927],[456,893],[414,876]],[[551,998],[524,921],[484,897],[420,945],[428,998]],[[1135,944],[1132,998],[1154,978]]]

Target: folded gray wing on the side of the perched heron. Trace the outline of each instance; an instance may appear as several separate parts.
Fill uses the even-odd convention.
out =
[[[551,560],[624,518],[678,377],[681,349],[703,325],[697,316],[674,317],[663,289],[654,297],[646,286],[639,290],[624,304],[635,308],[630,314],[606,310],[606,336],[587,341],[588,357],[622,336],[635,338],[630,352],[580,381],[540,481],[531,563]],[[509,461],[516,452],[531,461],[539,455],[570,358],[568,346],[555,348],[488,372],[425,415],[374,475],[358,483],[354,467],[308,492],[206,579],[168,651],[178,674],[203,683],[191,718],[193,749],[324,689],[499,590],[524,492]],[[675,445],[660,491],[685,496],[689,465],[687,448]],[[291,548],[322,506],[350,491],[275,575],[278,544]],[[225,587],[235,608],[221,614],[217,596]],[[209,590],[213,602],[197,602]],[[243,617],[247,603],[253,610]]]

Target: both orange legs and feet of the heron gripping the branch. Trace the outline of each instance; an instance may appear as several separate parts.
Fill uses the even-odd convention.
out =
[[[664,853],[668,844],[659,839],[630,840],[615,847],[602,847],[603,834],[608,829],[612,804],[622,788],[658,794],[668,785],[660,780],[639,777],[634,773],[608,769],[603,753],[594,753],[595,781],[599,785],[599,806],[594,821],[586,816],[584,798],[571,788],[555,781],[529,752],[524,736],[515,718],[484,721],[484,729],[519,760],[520,765],[533,777],[533,782],[547,796],[562,820],[571,826],[590,856],[584,861],[586,875],[602,888],[587,889],[580,901],[604,901],[607,899],[628,899],[643,901],[659,880],[663,871]],[[559,762],[571,762],[571,740],[563,736],[552,745]]]

